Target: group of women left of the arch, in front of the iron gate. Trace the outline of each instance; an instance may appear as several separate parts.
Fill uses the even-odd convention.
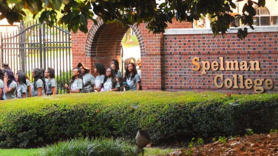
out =
[[[3,64],[0,69],[1,100],[56,94],[54,69],[34,68],[32,77],[33,83],[23,70],[14,75],[8,64]]]

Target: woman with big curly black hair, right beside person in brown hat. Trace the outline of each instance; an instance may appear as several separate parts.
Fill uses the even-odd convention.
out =
[[[100,92],[100,90],[103,88],[103,83],[105,79],[105,66],[101,63],[96,63],[94,72],[98,74],[95,78],[95,86],[94,91]]]

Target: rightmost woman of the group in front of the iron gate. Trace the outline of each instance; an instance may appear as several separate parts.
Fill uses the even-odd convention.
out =
[[[55,81],[55,70],[52,68],[47,68],[44,71],[45,84],[46,84],[46,95],[55,95],[56,81]]]

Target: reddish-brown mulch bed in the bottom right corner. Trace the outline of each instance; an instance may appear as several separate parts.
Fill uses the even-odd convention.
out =
[[[208,155],[236,156],[261,155],[278,156],[278,133],[254,134],[244,137],[231,138],[224,142],[212,142],[203,146],[180,149],[164,156]]]

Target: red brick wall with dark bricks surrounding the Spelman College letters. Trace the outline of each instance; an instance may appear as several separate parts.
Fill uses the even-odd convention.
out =
[[[227,89],[225,86],[218,89],[214,85],[215,75],[224,75],[224,80],[233,75],[243,75],[252,79],[271,79],[274,83],[272,90],[265,92],[277,92],[278,90],[278,50],[276,33],[249,33],[248,38],[240,40],[236,34],[213,37],[212,34],[194,35],[165,35],[165,90],[179,91],[216,91],[233,93],[254,93],[251,89]],[[246,60],[247,62],[258,60],[261,71],[213,71],[210,69],[207,74],[201,74],[201,70],[192,70],[193,57],[200,57],[201,61],[220,62],[219,57],[225,61]],[[225,64],[226,65],[226,64]],[[249,65],[249,64],[248,64]],[[196,67],[196,66],[194,66]],[[218,79],[220,80],[220,79]],[[224,82],[224,80],[222,82]],[[220,84],[220,81],[218,81]]]

